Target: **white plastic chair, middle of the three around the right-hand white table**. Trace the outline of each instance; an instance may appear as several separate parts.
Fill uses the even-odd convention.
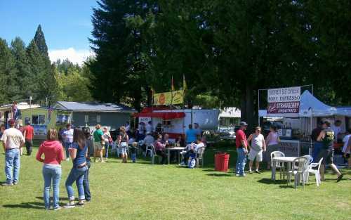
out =
[[[297,166],[296,166],[297,164]],[[293,160],[293,165],[291,166],[291,170],[289,170],[288,175],[288,183],[291,183],[291,176],[294,176],[294,188],[297,188],[300,183],[300,178],[302,177],[303,188],[305,188],[306,182],[306,173],[308,173],[309,164],[306,157],[298,157]]]

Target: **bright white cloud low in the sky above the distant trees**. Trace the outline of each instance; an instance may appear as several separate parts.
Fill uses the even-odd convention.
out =
[[[67,49],[48,51],[48,56],[50,57],[51,62],[55,62],[58,59],[68,59],[72,63],[78,63],[79,65],[82,65],[86,58],[92,55],[93,51],[91,50],[76,50],[72,47]]]

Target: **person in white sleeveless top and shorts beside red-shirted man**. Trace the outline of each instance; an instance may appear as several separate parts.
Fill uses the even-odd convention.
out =
[[[251,145],[249,145],[250,148],[250,153],[249,153],[249,173],[252,174],[252,165],[253,161],[256,159],[256,170],[255,172],[257,174],[260,174],[259,168],[260,168],[260,162],[263,160],[263,152],[265,152],[265,137],[260,134],[261,133],[261,128],[256,127],[255,133],[251,134],[247,141]]]

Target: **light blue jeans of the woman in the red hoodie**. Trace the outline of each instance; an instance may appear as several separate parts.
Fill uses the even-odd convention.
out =
[[[53,208],[58,207],[58,200],[60,195],[60,179],[61,179],[61,166],[55,164],[44,164],[44,203],[45,208],[50,208],[50,188],[51,181],[53,182]]]

